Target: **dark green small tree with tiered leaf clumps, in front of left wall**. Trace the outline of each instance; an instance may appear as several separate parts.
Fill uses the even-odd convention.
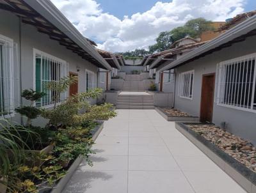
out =
[[[25,89],[22,91],[21,96],[26,98],[26,100],[30,100],[30,105],[17,107],[15,109],[16,112],[19,112],[22,116],[26,116],[27,123],[26,125],[31,125],[31,120],[37,118],[41,114],[41,110],[34,107],[36,100],[39,100],[45,95],[45,93],[34,91],[33,89]]]

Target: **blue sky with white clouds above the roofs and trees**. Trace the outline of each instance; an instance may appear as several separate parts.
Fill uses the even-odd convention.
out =
[[[256,10],[255,0],[51,0],[99,49],[147,49],[161,31],[204,17],[225,21]]]

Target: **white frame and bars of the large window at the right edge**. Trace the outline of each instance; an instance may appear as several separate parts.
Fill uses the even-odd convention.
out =
[[[246,107],[239,107],[237,104],[235,104],[235,102],[234,102],[234,104],[224,104],[223,102],[221,102],[221,100],[223,100],[223,94],[224,94],[224,92],[225,91],[223,91],[223,88],[221,88],[221,84],[227,84],[226,82],[225,83],[223,83],[223,79],[226,79],[226,76],[225,76],[225,74],[223,73],[223,70],[224,70],[224,68],[227,68],[227,66],[228,65],[236,65],[236,63],[240,63],[241,64],[241,62],[242,61],[247,61],[247,67],[248,67],[248,61],[249,60],[253,60],[254,59],[254,71],[252,72],[253,73],[253,77],[252,77],[252,73],[250,74],[250,79],[251,78],[253,78],[253,82],[252,82],[252,98],[251,98],[251,105],[250,106],[246,106]],[[243,66],[244,67],[244,66]],[[251,68],[252,68],[252,63],[251,63],[251,66],[250,66]],[[241,68],[241,66],[240,66],[240,68]],[[235,69],[235,68],[234,68]],[[244,70],[244,69],[243,69]],[[241,73],[243,70],[240,70],[239,69],[239,73]],[[217,70],[216,70],[216,72],[217,72],[217,75],[218,75],[218,82],[217,82],[217,86],[218,86],[218,90],[217,90],[217,95],[216,95],[216,104],[217,105],[219,105],[219,106],[223,106],[223,107],[229,107],[229,108],[232,108],[232,109],[238,109],[238,110],[241,110],[241,111],[249,111],[249,112],[254,112],[254,113],[256,113],[256,109],[253,109],[253,105],[255,105],[254,104],[254,96],[256,95],[256,89],[255,89],[255,84],[256,84],[256,52],[255,53],[253,53],[253,54],[248,54],[248,55],[245,55],[245,56],[241,56],[241,57],[238,57],[238,58],[233,58],[233,59],[229,59],[229,60],[227,60],[227,61],[221,61],[218,65],[217,65]],[[238,72],[238,71],[237,71]],[[237,73],[236,72],[236,73]],[[246,72],[246,75],[248,74],[248,69],[247,69],[247,72]],[[244,74],[243,74],[243,76],[244,76]],[[228,77],[227,77],[228,78]],[[237,78],[237,74],[236,74],[236,78]],[[238,77],[239,79],[241,78],[241,76],[239,75],[239,77]],[[244,78],[244,77],[243,77]],[[242,79],[243,79],[242,78]],[[233,77],[233,79],[234,79],[234,77]],[[240,84],[242,84],[242,86],[243,86],[243,84],[245,83],[245,84],[247,84],[248,82],[247,82],[247,77],[246,77],[246,82],[240,82],[240,80],[238,80],[238,84],[239,84],[239,86],[240,86]],[[237,80],[232,80],[232,82],[233,81],[237,81]],[[234,84],[234,82],[233,82],[233,84]],[[237,84],[237,83],[236,83]],[[247,88],[248,86],[246,85],[245,86],[245,91],[246,91],[246,88]],[[233,86],[232,86],[232,89],[233,89]],[[236,87],[235,87],[235,89],[236,89]],[[239,89],[239,88],[238,88]],[[250,87],[248,88],[248,89],[250,89]],[[234,95],[238,95],[238,92],[236,92],[236,91],[231,91],[232,92],[232,95],[234,94]],[[250,92],[250,90],[249,90],[249,92]],[[225,94],[224,94],[225,95]],[[229,96],[228,96],[229,97]],[[238,97],[238,96],[237,96]],[[231,96],[231,98],[232,98],[232,96]],[[241,105],[241,98],[242,97],[240,97],[240,105]],[[237,98],[237,100],[239,100],[238,98]],[[244,100],[245,100],[245,98],[244,98]],[[248,101],[247,101],[247,105],[248,105],[248,102],[249,102],[249,98],[248,98]],[[243,105],[244,105],[244,103],[243,103]],[[248,108],[249,107],[249,108]]]

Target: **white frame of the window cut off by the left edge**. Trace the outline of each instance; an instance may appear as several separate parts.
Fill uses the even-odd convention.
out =
[[[6,58],[5,61],[3,61],[4,65],[9,65],[9,68],[6,68],[6,74],[8,75],[7,80],[8,82],[6,83],[7,85],[7,104],[8,104],[8,114],[6,115],[1,115],[3,118],[10,118],[15,116],[15,111],[14,111],[14,80],[13,80],[13,40],[11,38],[8,38],[6,36],[0,35],[0,43],[3,45],[3,48],[5,49],[5,54]],[[8,54],[7,54],[7,49],[8,49]],[[8,57],[8,59],[7,59]],[[9,69],[9,72],[8,72]],[[6,79],[6,78],[4,78]],[[0,89],[1,92],[1,89]],[[5,100],[5,98],[3,98]],[[5,102],[4,102],[5,103]]]

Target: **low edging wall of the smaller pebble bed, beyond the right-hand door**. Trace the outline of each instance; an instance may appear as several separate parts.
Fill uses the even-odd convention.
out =
[[[176,122],[194,122],[194,121],[198,122],[199,121],[199,118],[197,116],[171,116],[160,107],[156,107],[155,109],[167,121],[176,121]]]

